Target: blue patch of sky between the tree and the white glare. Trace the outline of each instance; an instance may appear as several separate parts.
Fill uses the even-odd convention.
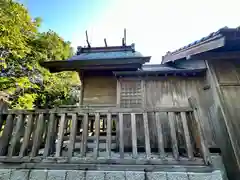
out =
[[[97,19],[111,0],[20,0],[32,17],[41,17],[41,31],[52,29],[64,39],[72,41],[72,34],[79,35]],[[77,38],[77,37],[76,37]]]

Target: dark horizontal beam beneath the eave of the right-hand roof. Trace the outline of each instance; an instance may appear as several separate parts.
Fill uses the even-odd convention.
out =
[[[231,51],[231,52],[205,52],[202,54],[196,54],[188,56],[187,59],[193,60],[231,60],[231,59],[240,59],[240,51]]]

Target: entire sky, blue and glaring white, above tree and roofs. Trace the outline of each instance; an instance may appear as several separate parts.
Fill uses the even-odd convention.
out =
[[[88,30],[92,46],[127,43],[160,63],[167,51],[198,40],[221,27],[240,25],[238,0],[20,0],[42,31],[52,29],[73,47],[84,46]]]

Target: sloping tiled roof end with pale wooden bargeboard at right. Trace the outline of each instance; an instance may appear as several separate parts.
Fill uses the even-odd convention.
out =
[[[173,52],[167,52],[162,58],[162,63],[184,58],[188,59],[193,55],[205,52],[227,52],[237,50],[240,50],[239,28],[224,27]]]

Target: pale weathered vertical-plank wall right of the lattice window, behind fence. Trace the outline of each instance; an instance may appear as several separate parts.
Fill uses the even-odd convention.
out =
[[[124,79],[121,80],[124,83]],[[142,79],[142,85],[145,90],[145,100],[142,100],[143,107],[177,107],[177,106],[189,106],[188,98],[193,96],[197,99],[200,105],[200,111],[203,115],[201,123],[204,126],[204,131],[207,136],[209,147],[216,147],[216,141],[212,130],[212,122],[209,115],[208,101],[212,101],[209,97],[209,93],[205,92],[204,86],[206,84],[205,77],[155,77],[154,79]],[[170,132],[168,119],[165,113],[162,113],[163,129],[164,129],[164,143],[165,146],[171,147],[170,144]],[[149,128],[150,128],[150,140],[151,148],[157,148],[157,129],[154,121],[153,114],[148,114]],[[130,118],[125,120],[125,146],[131,146],[131,132],[128,132],[130,127]],[[181,127],[179,127],[179,134],[181,134]],[[137,138],[138,146],[144,145],[144,131],[143,121],[141,117],[137,121]]]

